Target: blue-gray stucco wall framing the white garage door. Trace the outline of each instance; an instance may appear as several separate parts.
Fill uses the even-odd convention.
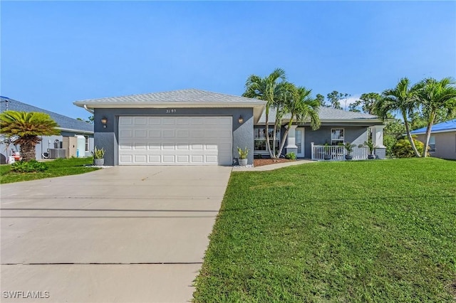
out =
[[[169,108],[171,109],[171,107]],[[237,163],[237,147],[250,151],[248,164],[253,163],[254,155],[254,118],[252,108],[172,108],[176,110],[167,113],[165,108],[124,108],[124,109],[95,109],[95,146],[105,149],[105,165],[118,165],[118,120],[120,116],[231,116],[233,128],[233,158]],[[238,118],[242,115],[244,122],[239,124]],[[103,128],[100,120],[108,119]]]

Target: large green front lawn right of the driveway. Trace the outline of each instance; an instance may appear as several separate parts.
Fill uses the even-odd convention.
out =
[[[195,302],[453,302],[456,161],[233,172]]]

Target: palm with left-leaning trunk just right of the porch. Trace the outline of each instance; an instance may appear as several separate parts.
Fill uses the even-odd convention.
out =
[[[375,105],[375,113],[383,119],[388,118],[388,112],[400,112],[404,119],[405,132],[407,132],[408,141],[415,153],[420,156],[418,149],[415,147],[412,135],[410,134],[410,124],[408,116],[418,107],[418,92],[422,84],[418,83],[410,86],[408,78],[400,79],[399,83],[391,89],[382,92],[382,98]]]

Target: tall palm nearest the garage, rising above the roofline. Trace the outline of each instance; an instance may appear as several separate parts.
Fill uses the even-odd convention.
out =
[[[285,71],[281,68],[276,68],[267,77],[261,78],[258,75],[250,75],[245,83],[244,97],[255,98],[266,101],[266,122],[264,125],[266,134],[266,149],[271,158],[275,158],[275,153],[271,151],[269,144],[269,108],[274,107],[274,102],[279,99],[280,83],[286,80]],[[275,134],[274,134],[275,135]],[[275,142],[273,142],[275,147]]]

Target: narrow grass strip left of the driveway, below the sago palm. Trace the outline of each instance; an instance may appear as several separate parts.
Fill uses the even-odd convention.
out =
[[[10,171],[9,165],[0,166],[0,184],[30,181],[37,179],[52,178],[56,176],[69,176],[76,174],[84,174],[89,171],[95,171],[98,168],[87,167],[85,165],[92,164],[93,158],[71,158],[71,159],[56,159],[46,161],[48,170],[38,173],[19,174]]]

